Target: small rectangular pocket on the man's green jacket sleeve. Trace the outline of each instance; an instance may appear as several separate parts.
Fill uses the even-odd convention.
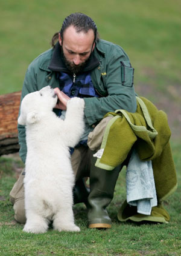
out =
[[[121,61],[122,86],[133,87],[134,69],[129,61]]]

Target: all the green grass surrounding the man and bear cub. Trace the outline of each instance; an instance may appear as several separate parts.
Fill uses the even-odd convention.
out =
[[[65,16],[83,12],[97,23],[101,38],[121,45],[135,67],[135,90],[168,113],[173,131],[171,145],[178,189],[165,201],[168,224],[119,223],[116,212],[125,198],[125,170],[119,175],[115,197],[108,207],[113,221],[106,231],[87,228],[86,209],[74,206],[80,233],[34,235],[22,232],[14,221],[9,192],[22,168],[18,158],[0,158],[0,254],[1,255],[161,255],[181,254],[180,116],[181,20],[179,0],[8,0],[0,8],[0,93],[22,89],[28,64],[50,47]]]

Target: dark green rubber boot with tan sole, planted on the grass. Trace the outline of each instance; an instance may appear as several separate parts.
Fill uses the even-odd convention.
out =
[[[90,166],[90,194],[88,197],[89,228],[110,228],[111,219],[106,207],[112,201],[121,166],[113,170],[95,167],[97,158],[92,157]]]

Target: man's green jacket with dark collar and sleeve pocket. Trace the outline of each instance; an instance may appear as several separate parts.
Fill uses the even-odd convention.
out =
[[[59,47],[59,43],[57,44]],[[39,55],[28,67],[22,88],[22,98],[28,93],[42,89],[45,86],[60,87],[56,77],[57,71],[50,68],[56,48],[49,49]],[[61,59],[60,50],[56,52],[57,63]],[[107,112],[116,109],[136,111],[136,96],[133,85],[134,69],[124,50],[112,42],[100,39],[93,52],[98,65],[91,70],[92,83],[100,98],[84,98],[84,115],[89,126],[94,127]],[[56,112],[56,110],[55,110]],[[27,146],[25,127],[18,125],[20,157],[25,162]]]

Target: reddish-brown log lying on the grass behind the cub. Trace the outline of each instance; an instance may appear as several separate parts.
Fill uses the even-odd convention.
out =
[[[0,156],[19,151],[17,116],[21,91],[0,95]]]

